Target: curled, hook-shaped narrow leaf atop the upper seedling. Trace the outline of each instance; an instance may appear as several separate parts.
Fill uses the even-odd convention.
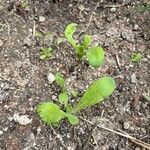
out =
[[[76,23],[70,23],[69,25],[67,25],[65,29],[65,37],[70,42],[70,44],[73,45],[75,49],[77,49],[77,44],[76,41],[73,39],[73,34],[76,31],[76,27],[77,27]]]

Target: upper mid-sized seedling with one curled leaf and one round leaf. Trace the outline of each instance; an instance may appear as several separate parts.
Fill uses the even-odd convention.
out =
[[[70,23],[65,29],[65,37],[68,42],[74,47],[75,52],[79,59],[81,60],[84,56],[87,56],[89,64],[98,68],[102,65],[104,61],[104,50],[100,46],[90,47],[92,43],[92,38],[90,35],[84,35],[83,41],[78,43],[74,38],[73,34],[76,31],[77,24]]]

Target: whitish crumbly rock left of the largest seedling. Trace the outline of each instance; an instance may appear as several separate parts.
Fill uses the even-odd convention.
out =
[[[20,125],[27,125],[32,122],[32,119],[29,119],[27,115],[21,115],[18,114],[13,115],[14,121],[18,122]]]

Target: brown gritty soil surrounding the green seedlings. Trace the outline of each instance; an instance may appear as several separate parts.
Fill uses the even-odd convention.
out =
[[[49,73],[61,72],[68,91],[79,91],[78,98],[98,77],[112,76],[117,88],[101,104],[83,110],[79,116],[93,121],[103,118],[117,129],[150,143],[150,10],[134,6],[149,5],[149,0],[0,0],[0,150],[142,150],[127,138],[105,130],[92,130],[80,120],[72,126],[63,120],[58,127],[45,125],[37,115],[42,101],[57,103],[60,88],[49,83]],[[105,63],[91,68],[80,62],[67,43],[56,44],[64,37],[70,22],[78,24],[75,35],[90,34],[93,43],[105,49]],[[35,31],[51,32],[48,39],[38,39]],[[79,36],[77,37],[77,35]],[[40,60],[42,47],[52,47],[53,57]],[[140,52],[143,59],[131,62]],[[25,125],[14,115],[26,116]],[[108,123],[109,122],[109,123]],[[92,133],[92,134],[91,134]]]

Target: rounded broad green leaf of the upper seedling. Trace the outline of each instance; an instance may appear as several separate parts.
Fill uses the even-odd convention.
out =
[[[98,68],[104,62],[104,50],[102,47],[90,48],[86,53],[89,64]]]

